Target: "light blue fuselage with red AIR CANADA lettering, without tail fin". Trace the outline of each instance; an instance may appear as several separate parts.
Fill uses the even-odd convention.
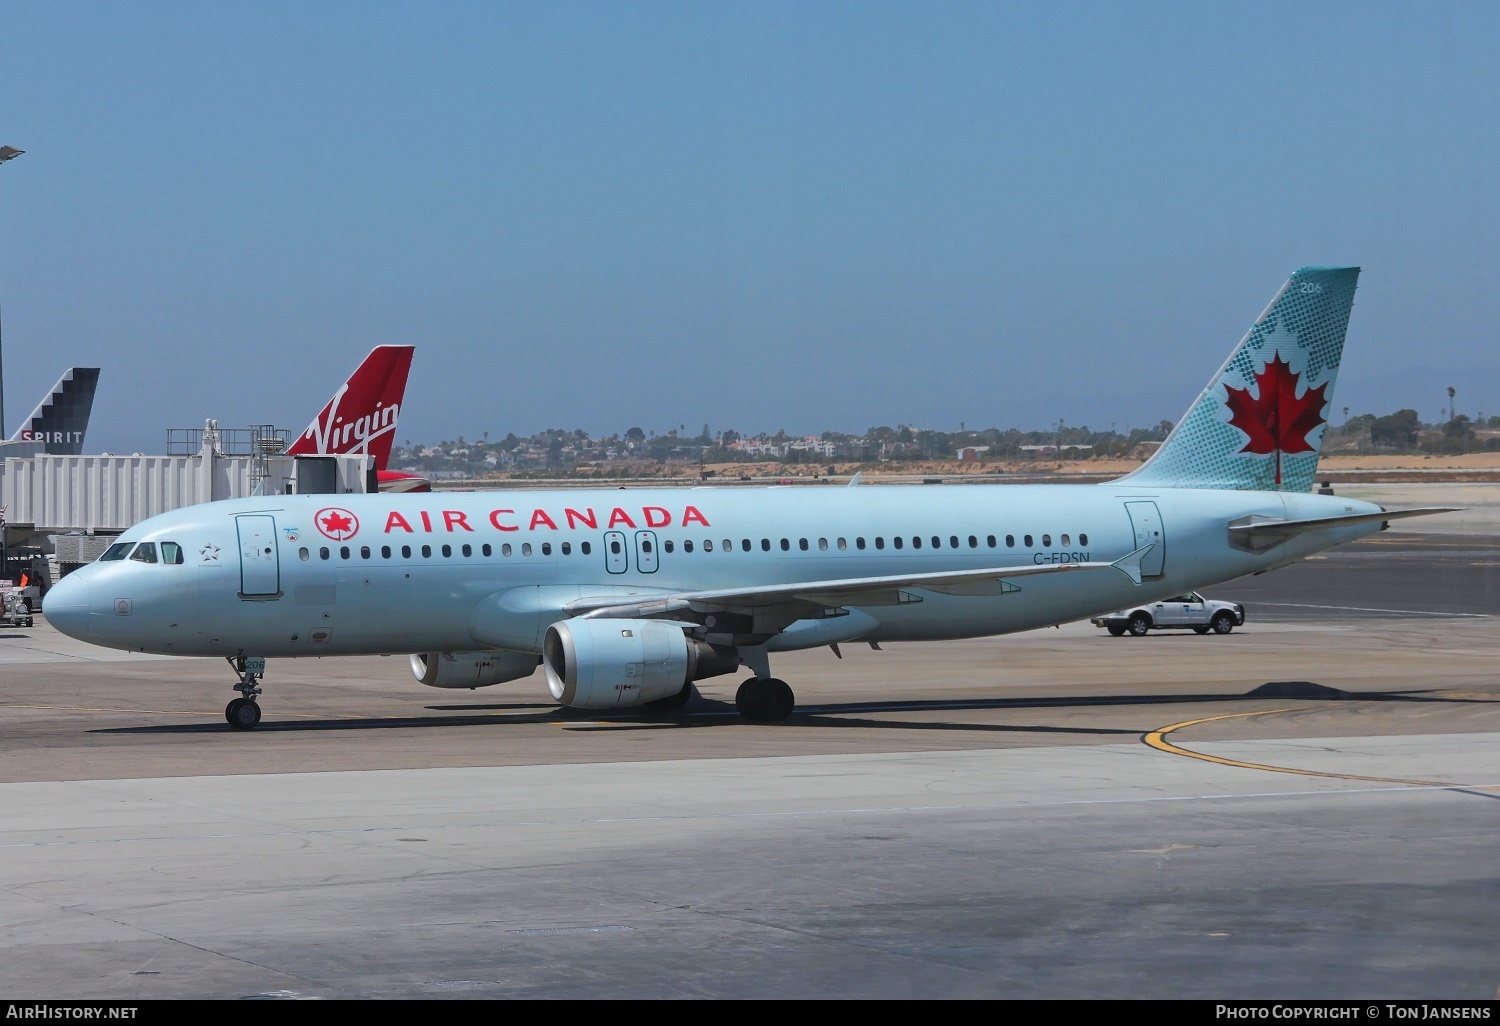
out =
[[[320,528],[328,510],[339,512],[334,524],[350,514],[348,528]],[[184,561],[90,564],[54,585],[46,615],[93,644],[180,656],[537,652],[548,624],[572,615],[566,606],[579,600],[1101,564],[1152,546],[1140,584],[1104,567],[988,590],[1000,594],[906,586],[885,604],[855,602],[837,616],[798,621],[770,651],[936,640],[1154,602],[1382,526],[1306,531],[1257,554],[1232,544],[1228,525],[1242,518],[1378,512],[1340,496],[1118,482],[266,496],[138,524],[122,542],[171,542]]]

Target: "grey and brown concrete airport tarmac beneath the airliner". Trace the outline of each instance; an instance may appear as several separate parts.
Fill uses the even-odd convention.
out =
[[[1378,489],[1470,512],[1206,590],[1228,636],[788,654],[772,726],[374,657],[237,734],[222,663],[0,632],[0,988],[1491,999],[1500,486]]]

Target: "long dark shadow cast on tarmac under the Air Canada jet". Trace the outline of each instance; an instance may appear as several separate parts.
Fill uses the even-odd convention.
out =
[[[940,720],[894,720],[885,718],[894,712],[960,712],[970,710],[1065,710],[1108,708],[1146,705],[1191,705],[1206,702],[1257,702],[1266,699],[1294,699],[1311,702],[1414,702],[1442,705],[1492,705],[1491,699],[1443,698],[1428,694],[1432,688],[1401,692],[1342,692],[1312,681],[1269,681],[1244,694],[1095,694],[1071,698],[1024,698],[1024,699],[948,699],[948,700],[892,700],[892,702],[842,702],[800,705],[783,724],[760,726],[818,726],[818,728],[880,728],[886,730],[974,730],[1017,734],[1089,734],[1089,735],[1138,735],[1138,729],[1086,728],[1048,724],[1004,724],[1004,723],[944,723]],[[576,724],[573,730],[662,730],[682,728],[738,726],[740,714],[734,704],[694,698],[681,710],[651,711],[627,710],[620,712],[600,710],[568,710],[540,702],[489,704],[489,705],[429,705],[435,712],[454,716],[399,716],[357,718],[310,718],[266,720],[256,732],[290,730],[390,730],[410,728],[456,728],[456,726],[508,726],[516,723]],[[501,716],[495,716],[500,712]],[[862,714],[862,716],[861,716]],[[882,718],[870,718],[882,717]],[[230,730],[224,723],[164,723],[153,726],[100,728],[90,734],[222,734]]]

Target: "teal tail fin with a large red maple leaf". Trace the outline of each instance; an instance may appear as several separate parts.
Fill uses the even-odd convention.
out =
[[[1120,483],[1308,492],[1358,267],[1302,267],[1144,466]]]

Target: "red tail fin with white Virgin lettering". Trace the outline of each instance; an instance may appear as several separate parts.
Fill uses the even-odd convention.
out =
[[[406,394],[411,345],[376,345],[286,450],[291,456],[369,454],[386,470]]]

